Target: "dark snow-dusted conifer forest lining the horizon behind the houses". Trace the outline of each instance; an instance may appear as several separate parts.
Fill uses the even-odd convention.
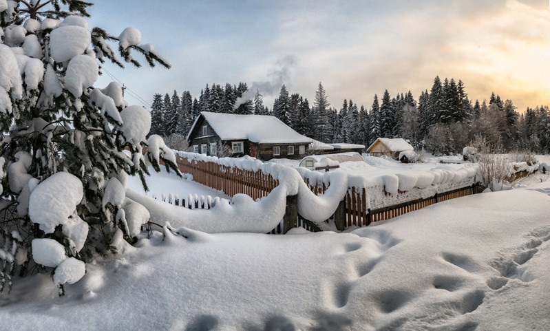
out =
[[[370,145],[378,137],[404,138],[416,149],[436,155],[461,153],[476,136],[500,151],[550,152],[550,110],[547,106],[518,111],[511,100],[491,94],[489,100],[471,100],[463,81],[438,76],[430,89],[415,100],[410,91],[374,95],[365,107],[345,99],[330,105],[319,83],[313,102],[282,85],[271,109],[260,92],[242,100],[246,83],[206,85],[198,98],[182,94],[155,94],[151,105],[151,134],[187,136],[200,111],[271,115],[299,134],[320,142]]]

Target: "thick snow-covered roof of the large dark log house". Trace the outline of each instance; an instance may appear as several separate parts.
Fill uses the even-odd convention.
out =
[[[222,140],[250,140],[264,144],[313,142],[313,139],[298,134],[274,116],[235,115],[209,111],[201,111],[200,115],[209,122]],[[197,122],[198,118],[193,123],[191,131]]]

